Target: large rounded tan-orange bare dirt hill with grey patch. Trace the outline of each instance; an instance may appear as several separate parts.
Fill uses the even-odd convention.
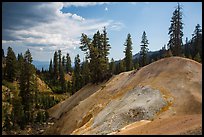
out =
[[[49,110],[45,134],[185,134],[202,127],[202,65],[170,57],[87,85]],[[163,125],[163,126],[162,126]]]

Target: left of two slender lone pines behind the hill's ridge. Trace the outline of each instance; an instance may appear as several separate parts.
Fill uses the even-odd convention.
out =
[[[133,62],[132,62],[132,40],[131,35],[127,35],[126,42],[124,44],[125,46],[125,67],[126,71],[130,71],[133,68]]]

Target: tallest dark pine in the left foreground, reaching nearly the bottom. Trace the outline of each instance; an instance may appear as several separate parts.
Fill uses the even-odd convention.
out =
[[[33,112],[35,108],[35,94],[37,90],[35,69],[32,65],[32,56],[29,50],[24,54],[23,67],[20,75],[20,96],[24,106],[25,122],[33,121]]]

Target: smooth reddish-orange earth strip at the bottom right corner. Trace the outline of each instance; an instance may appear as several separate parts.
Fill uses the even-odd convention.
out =
[[[137,124],[136,124],[137,125]],[[125,130],[121,130],[116,133],[119,135],[139,135],[139,134],[151,134],[151,135],[178,135],[184,134],[188,131],[201,129],[202,127],[202,115],[180,115],[172,116],[164,119],[156,119],[154,122],[137,127],[136,125],[130,126]]]

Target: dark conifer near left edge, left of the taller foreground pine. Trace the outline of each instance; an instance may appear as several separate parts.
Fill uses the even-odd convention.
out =
[[[17,61],[15,53],[11,47],[8,47],[5,67],[6,79],[13,82],[17,74]]]

